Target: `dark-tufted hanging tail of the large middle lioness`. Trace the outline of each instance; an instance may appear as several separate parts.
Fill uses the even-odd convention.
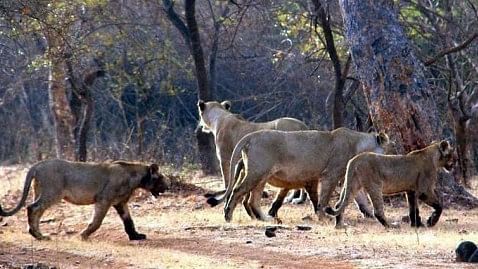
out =
[[[225,193],[219,196],[212,196],[207,199],[207,203],[211,205],[212,207],[224,202],[231,195],[232,190],[234,189],[234,185],[236,184],[236,181],[239,179],[241,171],[244,169],[244,166],[245,166],[244,160],[242,159],[242,150],[244,149],[244,146],[247,145],[248,143],[249,143],[249,136],[246,135],[234,147],[234,151],[232,152],[232,155],[231,155],[231,163],[230,163],[230,169],[229,169],[230,182],[227,185]]]

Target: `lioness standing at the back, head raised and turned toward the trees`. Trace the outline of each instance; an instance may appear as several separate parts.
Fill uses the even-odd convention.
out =
[[[216,155],[221,167],[224,187],[230,182],[230,160],[234,146],[246,134],[264,129],[283,131],[307,130],[307,126],[294,118],[279,118],[269,122],[249,122],[230,112],[231,102],[198,101],[200,125],[203,131],[212,132],[216,144]],[[220,192],[221,193],[221,192]],[[211,200],[209,200],[211,202]]]

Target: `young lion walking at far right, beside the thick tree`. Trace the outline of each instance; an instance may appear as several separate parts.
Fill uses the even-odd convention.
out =
[[[427,225],[434,226],[442,212],[441,202],[435,194],[437,170],[444,168],[449,171],[453,163],[453,148],[446,140],[406,155],[359,154],[347,164],[344,187],[336,209],[328,207],[326,212],[336,216],[336,227],[341,227],[345,207],[357,191],[364,189],[372,200],[375,217],[383,226],[389,227],[383,212],[382,194],[406,192],[411,225],[423,225],[417,207],[418,197],[433,207],[434,212]]]

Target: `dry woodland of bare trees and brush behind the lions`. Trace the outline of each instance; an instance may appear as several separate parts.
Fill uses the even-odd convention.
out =
[[[354,1],[340,2],[1,0],[0,163],[154,160],[217,173],[212,139],[197,128],[199,98],[231,100],[250,121],[374,126],[401,145],[350,54],[341,7]],[[478,170],[478,3],[376,5],[398,14],[404,56],[411,51],[431,85],[435,137],[457,147],[455,180],[469,185]],[[406,117],[395,109],[397,121]],[[424,144],[415,142],[396,150]]]

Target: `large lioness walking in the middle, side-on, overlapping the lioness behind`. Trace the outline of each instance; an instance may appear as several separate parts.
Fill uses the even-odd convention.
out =
[[[237,182],[227,188],[224,207],[226,221],[232,219],[232,212],[239,199],[251,192],[249,206],[258,219],[268,220],[277,216],[288,190],[305,188],[319,217],[322,207],[339,180],[345,174],[347,161],[364,151],[383,152],[388,143],[384,133],[362,133],[347,128],[333,131],[283,132],[262,130],[246,135],[234,148],[231,164],[242,165],[236,171]],[[239,163],[241,164],[241,163]],[[232,169],[231,169],[232,170]],[[320,202],[317,187],[321,180]],[[277,195],[269,216],[260,209],[260,193],[267,183],[282,188]],[[232,193],[232,194],[231,194]]]

